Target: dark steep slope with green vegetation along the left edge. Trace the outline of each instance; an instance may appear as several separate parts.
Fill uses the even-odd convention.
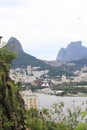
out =
[[[18,86],[9,77],[15,57],[7,47],[0,49],[0,130],[25,130],[24,102]]]

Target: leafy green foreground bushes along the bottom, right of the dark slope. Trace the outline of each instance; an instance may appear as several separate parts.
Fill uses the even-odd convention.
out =
[[[43,108],[42,111],[31,108],[26,115],[29,130],[87,130],[87,110],[75,106],[74,101],[72,109],[67,109],[66,114],[64,103],[59,102],[53,104],[51,109]]]

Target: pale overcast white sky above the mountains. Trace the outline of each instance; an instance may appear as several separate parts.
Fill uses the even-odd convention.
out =
[[[71,41],[87,47],[87,0],[0,0],[0,35],[26,53],[55,60]]]

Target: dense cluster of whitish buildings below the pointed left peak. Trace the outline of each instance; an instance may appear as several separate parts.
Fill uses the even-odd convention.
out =
[[[42,75],[47,75],[48,70],[39,70],[40,67],[27,66],[26,69],[16,68],[10,70],[10,77],[15,82],[31,83],[35,85],[35,81]]]

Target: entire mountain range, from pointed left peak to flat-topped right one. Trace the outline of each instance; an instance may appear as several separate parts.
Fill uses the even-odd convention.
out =
[[[14,37],[8,40],[8,48],[14,50],[18,56],[12,62],[11,68],[26,68],[28,65],[39,67],[39,70],[49,70],[50,76],[73,75],[73,71],[87,66],[87,48],[82,42],[72,42],[66,49],[60,49],[57,60],[43,61],[24,52],[21,43]],[[77,60],[78,59],[78,60]],[[61,62],[62,61],[62,62]]]

